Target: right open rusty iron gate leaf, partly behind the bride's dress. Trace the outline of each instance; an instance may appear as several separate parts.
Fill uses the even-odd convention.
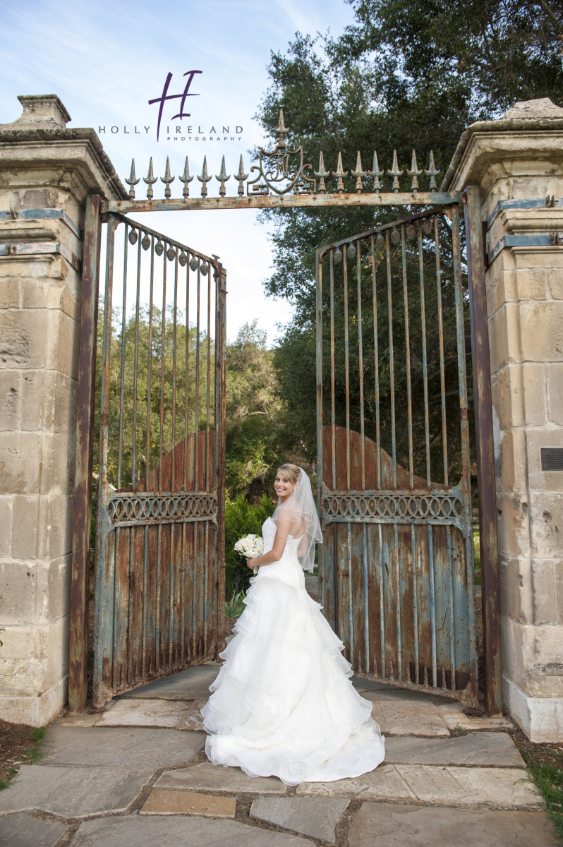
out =
[[[477,706],[460,238],[454,203],[317,251],[319,574],[357,676]]]

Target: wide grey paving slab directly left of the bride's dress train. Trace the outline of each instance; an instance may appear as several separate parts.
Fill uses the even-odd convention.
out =
[[[203,750],[203,732],[179,736],[175,729],[139,727],[48,727],[37,762],[81,767],[129,767],[144,770],[190,761]]]

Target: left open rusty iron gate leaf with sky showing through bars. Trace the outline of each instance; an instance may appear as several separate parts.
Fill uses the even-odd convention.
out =
[[[217,257],[108,215],[95,706],[223,647],[224,284]]]

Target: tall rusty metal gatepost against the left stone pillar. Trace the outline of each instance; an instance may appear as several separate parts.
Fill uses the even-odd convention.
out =
[[[82,246],[82,307],[76,407],[75,496],[70,578],[69,710],[86,708],[90,578],[91,473],[96,386],[100,197],[88,197]]]

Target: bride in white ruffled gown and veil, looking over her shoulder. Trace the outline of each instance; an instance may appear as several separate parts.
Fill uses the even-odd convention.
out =
[[[279,468],[278,507],[262,525],[264,553],[235,638],[201,709],[207,757],[288,785],[357,777],[384,759],[372,704],[350,683],[343,644],[306,593],[323,536],[306,473]]]

